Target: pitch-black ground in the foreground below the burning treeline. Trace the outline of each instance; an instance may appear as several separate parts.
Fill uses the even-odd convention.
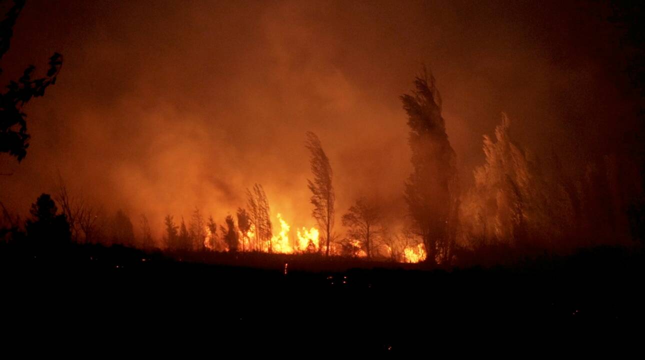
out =
[[[609,337],[624,348],[640,346],[631,336],[642,341],[644,259],[596,248],[450,271],[319,258],[308,268],[298,257],[252,268],[121,247],[2,244],[0,301],[3,330],[32,343],[27,352],[456,355],[517,341],[589,348]]]

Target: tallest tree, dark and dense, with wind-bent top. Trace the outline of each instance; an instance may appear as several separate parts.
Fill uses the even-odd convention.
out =
[[[455,151],[441,116],[441,96],[435,79],[424,68],[415,78],[412,95],[401,95],[408,115],[413,171],[405,185],[413,225],[434,263],[437,254],[450,260],[459,207]]]

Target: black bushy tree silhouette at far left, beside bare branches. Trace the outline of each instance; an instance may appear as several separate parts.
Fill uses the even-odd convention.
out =
[[[31,219],[25,224],[28,240],[40,248],[55,248],[71,241],[70,225],[49,194],[42,194],[32,204]]]

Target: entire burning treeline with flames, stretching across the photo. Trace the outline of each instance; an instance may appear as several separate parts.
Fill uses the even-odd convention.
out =
[[[502,114],[493,137],[483,137],[485,163],[475,168],[473,186],[461,189],[434,77],[424,70],[401,101],[413,166],[402,194],[408,214],[397,219],[403,226],[384,216],[377,197],[361,196],[339,216],[342,227],[335,228],[331,161],[319,137],[307,132],[312,228],[292,229],[280,213],[272,214],[263,186],[256,183],[246,189],[246,204],[217,223],[195,207],[187,219],[166,215],[163,235],[155,238],[146,214],[134,223],[123,210],[108,214],[82,194],[70,193],[59,177],[57,193],[38,197],[24,223],[3,206],[3,241],[57,239],[169,254],[318,254],[447,266],[643,241],[642,179],[631,159],[604,155],[582,166],[581,174],[571,174],[557,154],[539,159],[513,141],[511,120]],[[633,177],[619,177],[624,172]]]

